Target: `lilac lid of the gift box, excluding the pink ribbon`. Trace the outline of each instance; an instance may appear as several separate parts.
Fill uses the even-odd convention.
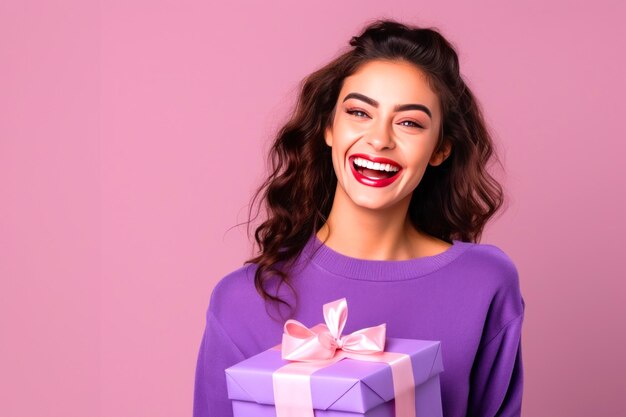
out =
[[[439,341],[388,337],[385,351],[410,355],[416,386],[443,371]],[[272,373],[288,363],[277,345],[227,368],[228,397],[273,405]],[[394,398],[391,368],[344,358],[311,375],[311,394],[314,409],[364,413]]]

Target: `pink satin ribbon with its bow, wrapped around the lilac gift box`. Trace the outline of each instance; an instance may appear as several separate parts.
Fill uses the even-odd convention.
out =
[[[272,374],[277,417],[314,417],[311,375],[344,358],[385,362],[393,378],[396,417],[415,417],[415,381],[411,357],[385,352],[386,324],[349,335],[341,332],[348,318],[345,298],[324,304],[324,320],[308,328],[297,320],[284,326],[281,357],[291,363]],[[278,347],[278,346],[277,346]]]

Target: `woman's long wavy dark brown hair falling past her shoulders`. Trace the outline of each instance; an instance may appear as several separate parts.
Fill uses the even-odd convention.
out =
[[[445,141],[452,151],[440,165],[428,165],[413,192],[408,216],[415,228],[448,243],[477,242],[503,204],[502,187],[486,170],[492,157],[499,160],[479,103],[459,72],[454,47],[436,28],[375,20],[352,37],[347,51],[302,80],[295,108],[273,141],[271,173],[254,194],[248,217],[249,225],[262,195],[267,220],[254,233],[260,253],[244,262],[257,265],[255,287],[266,301],[292,307],[266,284],[277,276],[278,288],[287,284],[293,291],[290,262],[328,218],[337,177],[324,130],[333,122],[344,79],[372,60],[412,63],[426,74],[441,103],[435,152]]]

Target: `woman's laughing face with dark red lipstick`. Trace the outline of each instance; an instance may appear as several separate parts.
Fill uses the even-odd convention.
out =
[[[427,165],[439,165],[449,153],[433,154],[440,122],[439,99],[420,69],[403,62],[364,64],[344,80],[325,133],[337,193],[371,209],[398,202],[408,207]],[[364,164],[370,169],[357,166]]]

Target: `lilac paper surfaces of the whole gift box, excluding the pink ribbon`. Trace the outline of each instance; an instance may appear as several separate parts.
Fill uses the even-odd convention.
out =
[[[225,370],[235,417],[276,417],[272,373],[290,363],[274,346]],[[441,342],[386,338],[385,352],[410,355],[415,379],[415,415],[441,417]],[[391,367],[344,358],[311,375],[316,417],[396,417]]]

